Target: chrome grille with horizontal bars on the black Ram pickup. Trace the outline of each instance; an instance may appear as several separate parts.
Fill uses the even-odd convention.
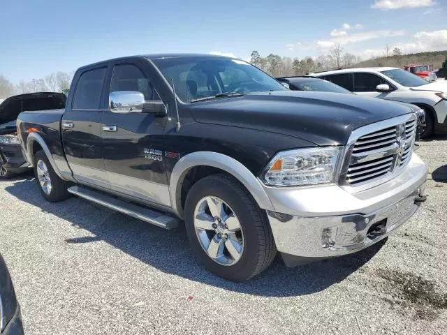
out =
[[[345,158],[342,184],[360,186],[378,181],[409,163],[416,137],[416,115],[398,117],[404,120],[387,124],[375,130],[362,133],[351,142]],[[386,124],[381,121],[379,124]],[[346,161],[348,163],[346,163]]]

